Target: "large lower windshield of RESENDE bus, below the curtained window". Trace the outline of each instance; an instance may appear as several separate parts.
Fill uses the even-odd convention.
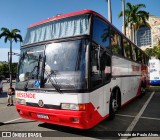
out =
[[[85,67],[85,45],[81,40],[24,48],[16,88],[86,88]]]

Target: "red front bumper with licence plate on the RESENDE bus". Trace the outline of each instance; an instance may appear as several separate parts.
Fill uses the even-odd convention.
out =
[[[79,129],[89,129],[107,116],[101,117],[91,103],[87,106],[86,111],[47,109],[20,104],[16,105],[16,109],[22,118]]]

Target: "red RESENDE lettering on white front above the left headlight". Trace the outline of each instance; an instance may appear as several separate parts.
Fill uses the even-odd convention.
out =
[[[35,99],[35,94],[30,92],[16,92],[16,98],[32,98]]]

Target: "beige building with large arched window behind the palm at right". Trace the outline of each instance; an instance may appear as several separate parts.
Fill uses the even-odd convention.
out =
[[[135,31],[134,43],[142,50],[153,48],[160,44],[160,17],[149,16],[146,26],[141,26]],[[126,29],[126,35],[131,39],[129,28]]]

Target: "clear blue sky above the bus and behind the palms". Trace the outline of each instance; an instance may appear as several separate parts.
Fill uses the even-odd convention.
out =
[[[160,0],[125,0],[131,4],[145,4],[142,9],[151,15],[160,17]],[[120,31],[122,18],[118,14],[122,10],[121,0],[111,0],[112,24]],[[29,25],[53,17],[57,14],[70,13],[90,9],[108,18],[107,0],[0,0],[0,28],[19,29],[24,38]],[[0,32],[1,33],[1,32]],[[3,50],[3,51],[2,51]],[[0,61],[8,61],[9,42],[0,40]],[[20,43],[13,43],[13,52],[20,52]],[[13,61],[18,61],[13,56]]]

